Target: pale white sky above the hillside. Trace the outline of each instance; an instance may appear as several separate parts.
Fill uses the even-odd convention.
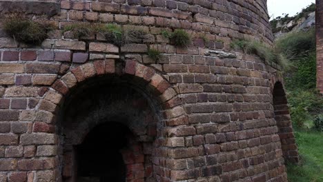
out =
[[[270,17],[279,17],[287,13],[291,17],[311,3],[315,3],[315,0],[267,0],[268,14]]]

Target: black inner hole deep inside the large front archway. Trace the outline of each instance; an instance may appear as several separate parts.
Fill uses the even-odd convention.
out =
[[[129,145],[130,130],[120,123],[95,127],[77,151],[77,176],[80,182],[124,182],[126,165],[121,154]]]

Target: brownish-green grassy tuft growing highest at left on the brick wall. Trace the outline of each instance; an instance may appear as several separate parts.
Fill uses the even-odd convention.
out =
[[[13,39],[27,44],[40,44],[47,39],[53,26],[32,21],[25,17],[10,16],[3,22],[3,30]]]

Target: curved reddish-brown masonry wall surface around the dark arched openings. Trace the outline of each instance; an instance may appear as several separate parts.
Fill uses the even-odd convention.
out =
[[[20,3],[17,11],[32,14]],[[290,143],[282,150],[275,120],[273,89],[282,79],[259,57],[230,48],[235,38],[271,45],[266,0],[47,3],[52,9],[33,18],[57,30],[40,46],[17,43],[0,31],[1,182],[65,180],[59,124],[64,103],[75,90],[87,89],[81,85],[101,83],[102,77],[128,83],[151,101],[159,125],[150,149],[155,181],[287,181],[283,154],[297,146],[288,131],[284,141]],[[3,13],[15,11],[3,7]],[[72,39],[61,30],[75,22],[117,23],[144,30],[148,39],[121,48],[100,34]],[[179,28],[193,39],[187,48],[161,35]],[[151,60],[148,48],[159,50],[161,59]],[[280,114],[290,121],[286,108]]]

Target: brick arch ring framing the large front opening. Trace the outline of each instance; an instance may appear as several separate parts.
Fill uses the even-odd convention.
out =
[[[124,66],[118,68],[116,66],[116,60],[106,61],[93,61],[83,65],[79,65],[76,68],[72,68],[69,72],[57,79],[53,83],[49,90],[45,92],[43,99],[39,102],[37,108],[38,120],[34,123],[34,132],[41,132],[41,136],[48,137],[50,141],[48,144],[52,145],[52,153],[56,155],[56,158],[60,161],[53,166],[52,170],[56,171],[56,181],[61,180],[61,172],[66,172],[61,168],[61,157],[59,157],[60,144],[59,134],[57,134],[57,120],[59,119],[59,110],[63,106],[63,102],[68,99],[68,94],[78,88],[81,83],[86,83],[89,79],[96,79],[97,77],[127,77],[128,81],[139,81],[146,84],[146,90],[150,90],[150,94],[153,94],[154,99],[161,105],[160,120],[166,123],[165,128],[162,129],[164,135],[166,135],[170,128],[176,125],[185,125],[187,122],[186,112],[182,107],[182,101],[177,96],[177,91],[170,86],[168,81],[159,75],[153,68],[149,68],[146,65],[138,63],[134,60],[126,60]],[[55,131],[56,128],[56,131]],[[56,134],[55,134],[56,133]],[[49,136],[46,136],[49,134]],[[158,139],[159,145],[168,148],[164,139]],[[156,150],[156,149],[155,149]],[[158,150],[158,149],[157,149]],[[157,152],[160,153],[160,152]],[[168,158],[167,155],[160,154],[161,158]],[[161,159],[160,159],[161,160]],[[159,160],[157,160],[159,161]],[[159,163],[159,162],[158,162]],[[155,170],[170,170],[167,169],[165,163],[161,163]],[[62,171],[63,170],[63,171]],[[158,172],[159,173],[159,172]],[[160,173],[159,173],[160,174]],[[167,179],[167,176],[160,174],[159,178]]]

